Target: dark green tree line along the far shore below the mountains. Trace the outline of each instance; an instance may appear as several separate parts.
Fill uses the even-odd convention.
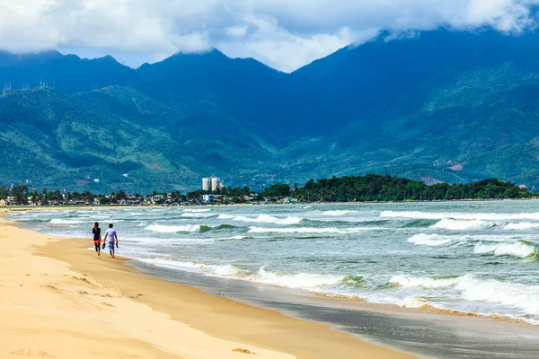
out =
[[[122,200],[137,199],[141,202],[148,198],[159,197],[157,203],[196,203],[203,195],[213,195],[217,202],[244,203],[249,201],[278,201],[292,197],[300,202],[402,202],[402,201],[438,201],[455,199],[505,199],[529,198],[537,196],[526,188],[518,188],[511,182],[487,179],[473,183],[453,184],[439,183],[428,186],[420,180],[407,180],[388,175],[368,174],[361,177],[332,177],[331,179],[309,180],[305,186],[293,187],[286,183],[277,183],[270,188],[255,193],[248,187],[219,188],[213,192],[192,191],[181,194],[153,192],[142,196],[128,195],[119,190],[110,195],[94,194],[89,190],[62,193],[59,189],[49,191],[30,190],[27,185],[16,185],[13,188],[0,187],[0,198],[12,196],[18,204],[51,203],[66,201],[85,201],[93,203],[97,198],[102,205],[115,204]]]

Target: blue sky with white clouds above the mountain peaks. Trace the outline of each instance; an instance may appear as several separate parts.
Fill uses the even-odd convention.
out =
[[[218,48],[285,72],[379,31],[534,29],[539,0],[0,0],[0,48],[137,67]]]

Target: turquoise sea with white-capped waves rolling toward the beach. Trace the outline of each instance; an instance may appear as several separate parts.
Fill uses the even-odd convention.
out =
[[[40,211],[13,220],[204,276],[539,324],[539,202],[208,206]]]

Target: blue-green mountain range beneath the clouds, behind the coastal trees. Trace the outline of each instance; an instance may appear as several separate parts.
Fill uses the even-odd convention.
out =
[[[144,192],[380,173],[539,187],[538,43],[382,33],[292,74],[218,50],[137,69],[0,52],[0,183]]]

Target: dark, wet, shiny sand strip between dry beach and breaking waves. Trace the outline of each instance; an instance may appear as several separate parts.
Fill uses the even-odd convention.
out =
[[[153,276],[197,286],[207,293],[277,310],[294,318],[322,321],[362,340],[423,357],[536,358],[539,352],[539,328],[517,321],[329,299],[273,285],[203,276],[138,261],[129,263]]]

